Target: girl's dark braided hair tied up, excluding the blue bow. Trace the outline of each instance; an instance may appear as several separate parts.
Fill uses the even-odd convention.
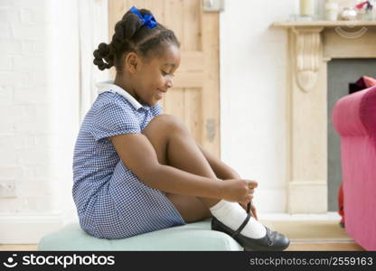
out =
[[[142,16],[153,15],[147,9],[140,9],[139,12]],[[115,25],[112,41],[109,44],[100,43],[98,49],[94,51],[93,62],[99,70],[115,66],[118,71],[121,71],[121,59],[128,52],[134,51],[148,61],[150,56],[162,56],[168,44],[180,47],[180,42],[172,30],[166,29],[161,23],[149,29],[146,24],[142,25],[141,19],[136,14],[127,11]]]

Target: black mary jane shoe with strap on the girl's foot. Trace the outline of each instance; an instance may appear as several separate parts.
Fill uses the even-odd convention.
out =
[[[215,217],[212,217],[211,219],[211,229],[230,235],[230,237],[237,240],[240,245],[245,248],[245,250],[281,251],[285,250],[290,245],[290,240],[286,236],[278,233],[277,231],[268,229],[267,227],[265,227],[265,229],[267,229],[267,234],[263,238],[248,238],[240,234],[240,231],[246,227],[250,219],[250,203],[248,204],[247,209],[247,218],[240,225],[239,229],[230,229]]]

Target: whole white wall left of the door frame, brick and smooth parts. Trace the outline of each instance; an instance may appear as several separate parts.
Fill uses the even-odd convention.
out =
[[[30,214],[72,207],[71,156],[80,121],[77,13],[74,0],[0,1],[0,182],[14,180],[17,192],[0,198],[0,216],[29,215],[26,223]]]

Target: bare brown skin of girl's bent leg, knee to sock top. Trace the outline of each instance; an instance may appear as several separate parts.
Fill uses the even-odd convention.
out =
[[[188,173],[216,178],[210,164],[194,142],[188,129],[176,117],[155,117],[143,131],[155,148],[160,164],[168,164]],[[209,208],[216,199],[166,193],[186,222],[211,217]]]

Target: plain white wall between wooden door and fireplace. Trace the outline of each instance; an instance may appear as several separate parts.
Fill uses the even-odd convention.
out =
[[[221,13],[221,157],[258,181],[259,213],[285,212],[287,33],[293,0],[227,0]]]

